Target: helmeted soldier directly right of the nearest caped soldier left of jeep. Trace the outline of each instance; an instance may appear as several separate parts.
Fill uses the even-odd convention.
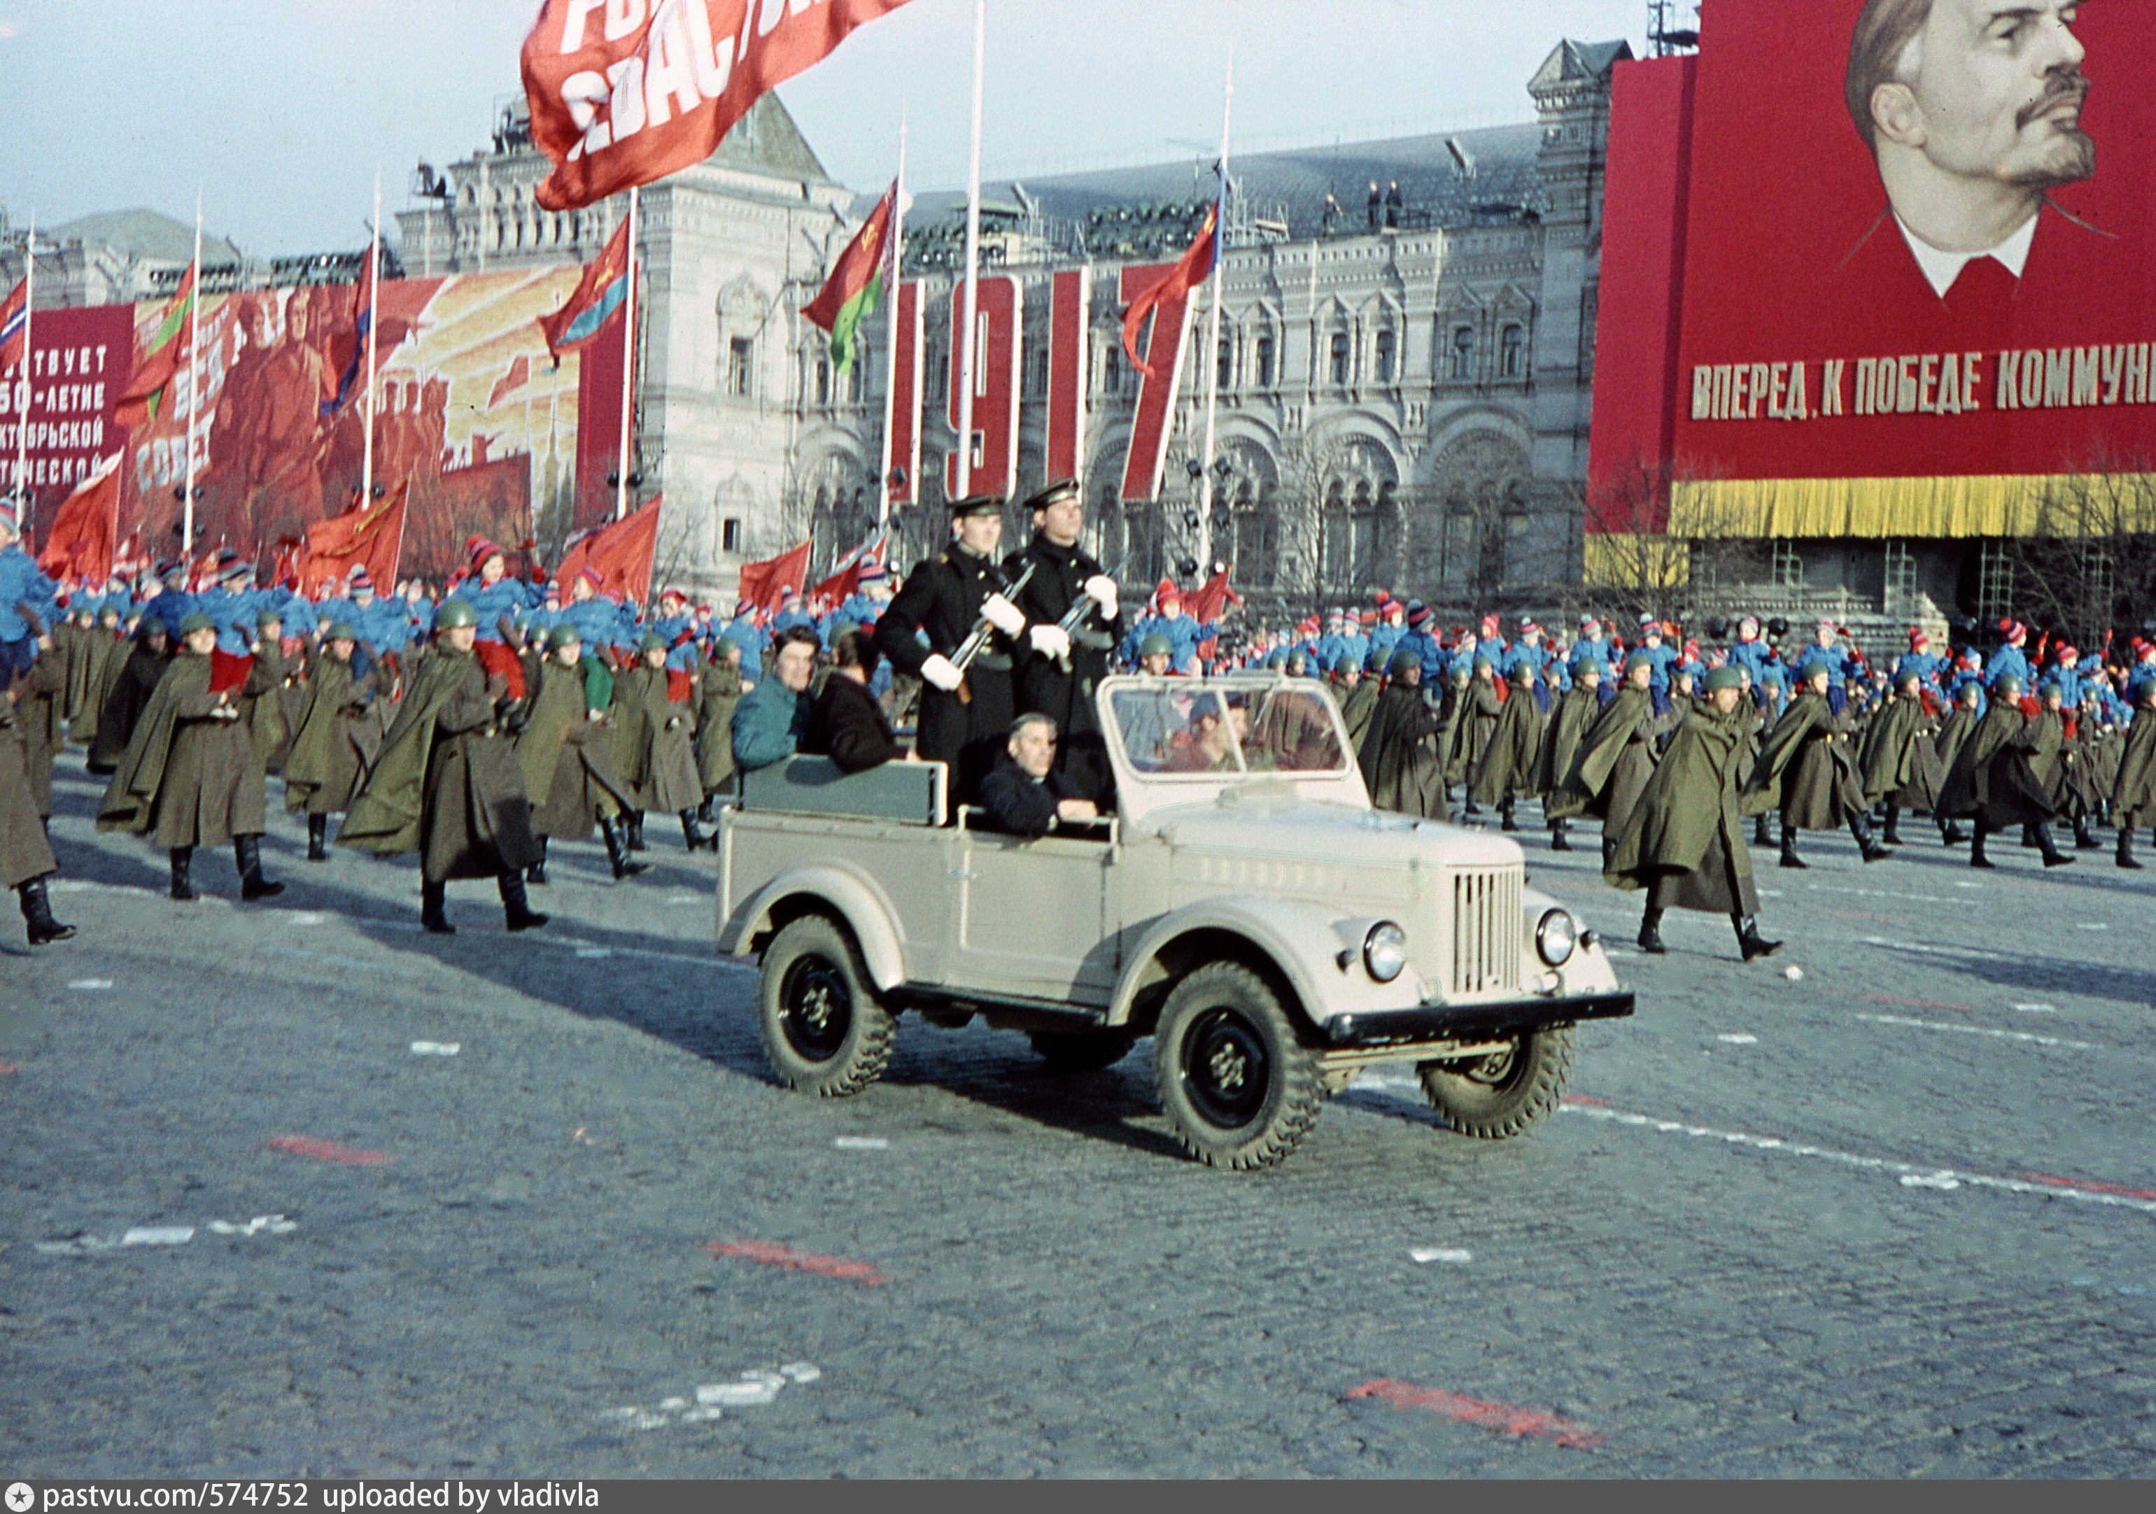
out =
[[[517,731],[517,768],[533,804],[533,835],[539,861],[524,869],[524,882],[543,886],[550,839],[589,841],[599,828],[614,882],[640,878],[651,863],[630,856],[621,817],[636,809],[634,789],[614,766],[614,675],[597,658],[584,656],[584,634],[569,621],[545,636],[545,662],[524,669],[530,701]]]

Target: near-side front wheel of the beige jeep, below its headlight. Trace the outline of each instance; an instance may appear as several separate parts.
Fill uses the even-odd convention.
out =
[[[1324,1100],[1317,1057],[1279,994],[1235,962],[1203,966],[1169,994],[1153,1081],[1184,1147],[1238,1171],[1287,1160]]]

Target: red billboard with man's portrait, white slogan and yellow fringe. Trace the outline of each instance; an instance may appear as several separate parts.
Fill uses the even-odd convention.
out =
[[[1710,0],[1623,67],[1600,477],[1667,466],[1680,533],[1984,535],[2156,470],[2156,6]]]

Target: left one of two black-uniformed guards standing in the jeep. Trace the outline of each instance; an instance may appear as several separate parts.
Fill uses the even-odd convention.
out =
[[[1020,651],[1054,656],[1059,647],[1054,636],[1031,636],[1026,613],[1005,597],[1011,582],[996,567],[1003,500],[964,498],[951,507],[951,518],[957,539],[906,576],[906,587],[875,625],[875,645],[897,673],[923,684],[914,751],[927,761],[949,763],[953,804],[972,804],[1018,714],[1011,673]],[[981,621],[994,634],[962,673],[953,658]]]

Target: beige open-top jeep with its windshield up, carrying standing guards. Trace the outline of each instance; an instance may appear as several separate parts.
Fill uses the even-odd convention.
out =
[[[761,958],[785,1085],[862,1091],[906,1011],[1024,1031],[1072,1070],[1151,1035],[1192,1156],[1270,1167],[1380,1063],[1412,1063],[1453,1130],[1516,1137],[1561,1102],[1574,1027],[1632,1014],[1514,841],[1371,809],[1319,684],[1110,677],[1095,699],[1115,813],[1041,839],[946,815],[940,763],[746,779],[718,949]]]

